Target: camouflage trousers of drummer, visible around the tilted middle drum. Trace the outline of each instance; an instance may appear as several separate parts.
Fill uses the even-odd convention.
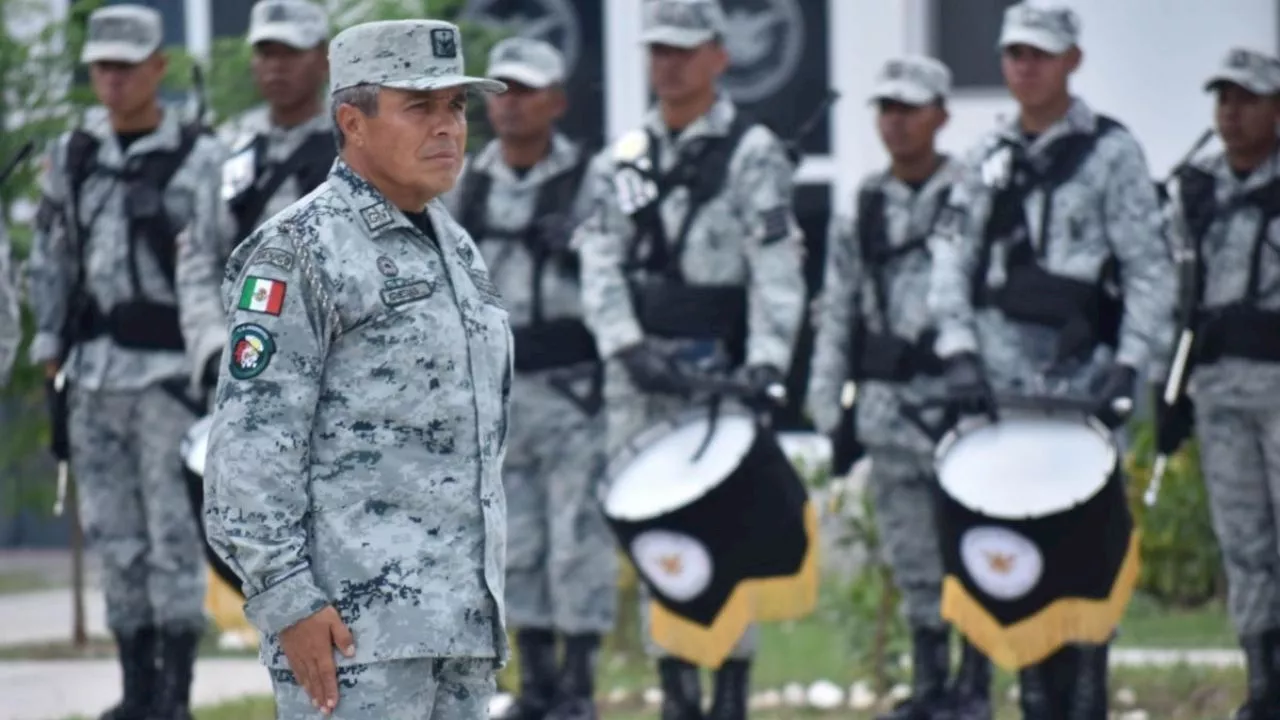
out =
[[[636,436],[662,420],[675,418],[684,411],[696,410],[677,397],[640,395],[631,386],[626,370],[617,361],[609,363],[604,388],[609,457],[621,452]],[[666,651],[653,642],[653,635],[649,632],[649,591],[644,583],[640,583],[640,626],[644,634],[645,652],[649,657],[666,657]],[[755,625],[749,625],[730,652],[730,659],[750,660],[755,656],[758,643],[759,629]]]

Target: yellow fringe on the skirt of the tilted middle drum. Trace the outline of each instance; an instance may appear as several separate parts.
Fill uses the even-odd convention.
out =
[[[809,551],[800,570],[794,575],[739,583],[709,626],[650,601],[649,634],[653,642],[675,657],[716,669],[724,662],[751,623],[797,620],[813,612],[818,605],[818,510],[812,501],[804,506],[804,530]]]

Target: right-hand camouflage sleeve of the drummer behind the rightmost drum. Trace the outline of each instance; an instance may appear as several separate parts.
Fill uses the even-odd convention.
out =
[[[1142,146],[1129,133],[1115,135],[1116,156],[1102,197],[1107,241],[1124,288],[1116,361],[1147,372],[1172,351],[1178,274]]]

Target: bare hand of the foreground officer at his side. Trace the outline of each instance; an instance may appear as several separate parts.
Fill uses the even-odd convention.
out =
[[[289,669],[302,689],[311,696],[311,703],[328,715],[338,706],[338,667],[333,661],[333,648],[347,657],[355,657],[356,642],[351,630],[333,606],[326,606],[280,632],[280,647],[289,660]]]

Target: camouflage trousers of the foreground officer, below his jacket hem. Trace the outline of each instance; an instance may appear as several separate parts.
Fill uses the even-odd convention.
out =
[[[271,670],[278,720],[485,720],[497,684],[494,661],[413,657],[338,669],[338,706],[311,705],[289,670]]]

